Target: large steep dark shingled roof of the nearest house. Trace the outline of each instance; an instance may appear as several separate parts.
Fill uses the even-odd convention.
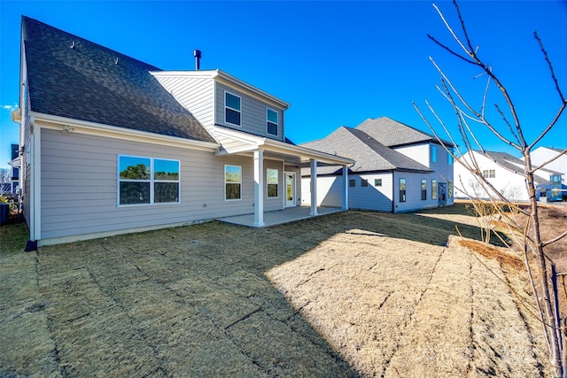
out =
[[[22,38],[33,112],[215,142],[151,75],[159,68],[25,16]]]

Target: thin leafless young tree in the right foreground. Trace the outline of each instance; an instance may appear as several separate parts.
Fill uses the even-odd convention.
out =
[[[540,36],[537,32],[534,32],[534,38],[543,55],[543,60],[546,62],[547,70],[551,75],[553,86],[555,87],[555,89],[552,90],[555,90],[558,101],[555,113],[548,115],[548,122],[541,127],[540,134],[533,140],[527,140],[523,124],[517,112],[517,106],[514,104],[504,83],[501,82],[494,72],[493,66],[487,64],[484,58],[480,58],[478,53],[479,46],[474,45],[470,40],[470,35],[467,32],[459,5],[456,1],[454,2],[454,9],[459,20],[459,25],[456,28],[449,24],[444,14],[439,11],[439,8],[435,4],[433,6],[439,13],[447,30],[452,35],[453,40],[451,45],[449,45],[440,42],[431,35],[428,35],[428,37],[454,58],[462,61],[463,64],[475,67],[478,70],[478,74],[475,78],[485,77],[484,94],[480,101],[480,107],[476,108],[471,99],[467,98],[467,96],[454,85],[454,82],[450,80],[446,72],[430,57],[431,63],[441,76],[441,83],[437,89],[442,96],[447,99],[447,102],[454,111],[454,116],[458,124],[459,140],[462,141],[462,143],[455,143],[453,135],[448,131],[447,122],[439,116],[439,113],[435,111],[429,102],[426,101],[425,104],[431,111],[433,119],[435,119],[444,130],[444,133],[442,133],[444,138],[445,135],[448,135],[448,139],[451,143],[454,145],[461,144],[461,148],[457,147],[454,150],[443,144],[443,139],[439,137],[435,127],[431,125],[431,122],[423,115],[423,112],[420,111],[415,103],[414,107],[423,121],[431,128],[433,134],[436,135],[439,143],[444,145],[447,152],[452,154],[454,159],[462,164],[471,174],[474,174],[478,181],[478,189],[483,189],[485,193],[489,193],[488,201],[497,209],[499,217],[506,220],[506,223],[509,225],[509,235],[516,239],[517,245],[521,246],[521,251],[519,252],[524,256],[525,266],[532,282],[532,290],[536,298],[540,322],[546,342],[548,343],[549,360],[553,366],[553,374],[555,376],[565,377],[567,376],[567,318],[562,317],[560,314],[558,305],[559,297],[556,290],[555,264],[548,258],[545,251],[550,243],[554,243],[567,235],[567,230],[563,232],[560,231],[558,235],[550,240],[542,240],[534,173],[540,168],[547,166],[556,158],[566,154],[567,150],[557,153],[554,158],[549,159],[540,166],[534,166],[532,164],[531,151],[534,146],[540,143],[540,141],[548,135],[549,131],[557,125],[567,107],[567,99],[563,96],[559,81],[555,76],[554,67],[548,56],[548,51],[544,48]],[[496,93],[500,96],[500,101],[503,100],[504,106],[502,107],[501,104],[496,102],[494,104],[495,112],[493,112],[493,115],[489,115],[490,112],[486,112],[486,103],[489,95],[492,95],[489,89],[492,89],[494,86],[498,89]],[[545,114],[542,114],[540,119],[545,119]],[[478,140],[479,131],[484,129],[489,130],[492,135],[499,138],[503,144],[515,148],[523,157],[523,175],[530,198],[529,205],[520,206],[515,204],[506,196],[506,193],[494,188],[491,182],[486,180],[483,176],[478,161],[473,153],[469,154],[470,158],[462,158],[464,152],[471,150],[480,150],[485,156],[490,158],[490,153],[483,149],[482,143]],[[496,161],[496,159],[493,160]],[[502,168],[508,169],[506,166],[502,166]],[[523,215],[524,220],[527,221],[522,222],[518,220],[517,217],[510,216],[510,209]],[[484,212],[484,210],[481,209],[479,212]],[[480,215],[485,214],[480,213]],[[488,239],[485,238],[485,240]],[[502,242],[508,243],[506,241]],[[509,244],[509,247],[513,248],[512,243]]]

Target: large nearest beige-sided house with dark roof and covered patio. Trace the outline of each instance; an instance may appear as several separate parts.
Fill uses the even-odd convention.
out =
[[[300,204],[302,166],[353,163],[291,143],[289,104],[228,73],[161,71],[27,17],[21,36],[12,118],[31,242],[240,214],[261,227]]]

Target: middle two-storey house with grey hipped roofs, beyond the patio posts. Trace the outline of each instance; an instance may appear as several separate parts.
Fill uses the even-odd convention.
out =
[[[355,160],[348,174],[351,209],[409,212],[453,204],[453,159],[447,150],[435,136],[396,120],[368,119],[301,145]],[[339,206],[344,177],[335,167],[318,173],[317,204]],[[302,202],[310,204],[307,170],[302,180]]]

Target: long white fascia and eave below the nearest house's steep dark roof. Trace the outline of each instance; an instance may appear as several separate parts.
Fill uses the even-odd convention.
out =
[[[185,139],[169,135],[159,135],[125,127],[109,126],[85,120],[74,120],[50,114],[30,112],[30,116],[33,116],[35,119],[35,127],[43,127],[56,130],[63,129],[63,127],[73,127],[74,129],[69,131],[74,133],[105,136],[143,143],[156,143],[170,147],[190,148],[193,150],[216,151],[221,147],[219,143],[195,141],[192,139]]]

